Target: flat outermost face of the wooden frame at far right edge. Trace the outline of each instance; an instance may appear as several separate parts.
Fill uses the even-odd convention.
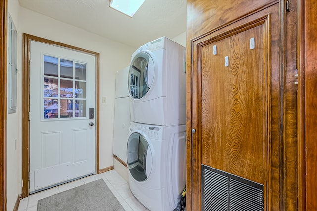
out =
[[[317,210],[317,1],[305,5],[306,211]]]

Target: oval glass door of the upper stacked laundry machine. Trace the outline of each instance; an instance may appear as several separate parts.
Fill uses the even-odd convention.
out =
[[[146,52],[134,56],[129,69],[129,92],[133,99],[142,98],[150,89],[154,78],[153,59]]]

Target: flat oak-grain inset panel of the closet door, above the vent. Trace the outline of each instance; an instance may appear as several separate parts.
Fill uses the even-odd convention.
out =
[[[255,49],[250,49],[250,38]],[[263,26],[202,47],[202,164],[264,184]],[[217,55],[212,54],[213,45]],[[228,56],[229,66],[224,58]],[[210,153],[213,151],[213,153]]]

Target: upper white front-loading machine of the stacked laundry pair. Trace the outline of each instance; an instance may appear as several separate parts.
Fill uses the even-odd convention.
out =
[[[131,57],[131,121],[172,126],[186,122],[186,49],[161,37]]]

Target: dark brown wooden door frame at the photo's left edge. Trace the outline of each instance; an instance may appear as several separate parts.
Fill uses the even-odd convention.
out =
[[[0,207],[6,211],[6,77],[7,77],[7,0],[1,0],[0,33]]]

